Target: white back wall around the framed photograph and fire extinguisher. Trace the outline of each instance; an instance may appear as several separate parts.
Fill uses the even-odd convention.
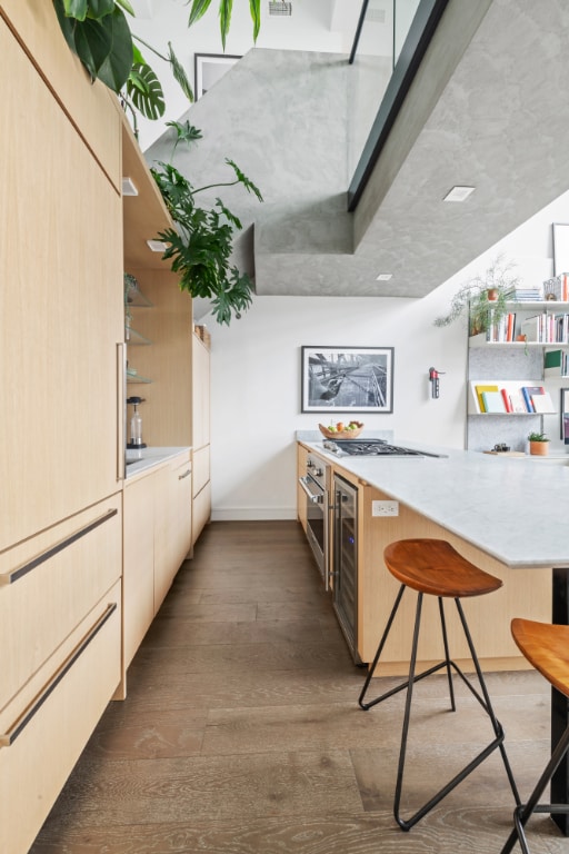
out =
[[[468,203],[468,202],[467,202]],[[213,519],[296,518],[298,429],[326,415],[300,411],[302,345],[395,347],[393,413],[366,414],[368,429],[396,440],[463,447],[466,320],[437,328],[451,295],[503,251],[520,276],[551,269],[551,224],[569,220],[569,193],[418,300],[256,297],[230,327],[206,318],[211,332],[211,479]],[[429,367],[441,373],[430,397]]]

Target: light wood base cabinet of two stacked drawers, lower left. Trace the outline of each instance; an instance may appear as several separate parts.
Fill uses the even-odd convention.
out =
[[[0,556],[0,851],[24,854],[120,682],[120,494]]]

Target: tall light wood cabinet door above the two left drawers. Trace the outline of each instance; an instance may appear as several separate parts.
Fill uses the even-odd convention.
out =
[[[117,489],[122,211],[3,21],[0,54],[2,549]]]

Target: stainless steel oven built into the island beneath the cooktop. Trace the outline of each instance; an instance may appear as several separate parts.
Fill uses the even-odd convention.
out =
[[[330,466],[308,456],[307,474],[299,478],[307,500],[307,538],[316,563],[329,588]]]

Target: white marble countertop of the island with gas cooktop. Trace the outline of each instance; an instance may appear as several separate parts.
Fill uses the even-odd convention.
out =
[[[303,444],[509,566],[569,567],[569,456],[540,465],[398,438],[448,457],[339,458]]]

